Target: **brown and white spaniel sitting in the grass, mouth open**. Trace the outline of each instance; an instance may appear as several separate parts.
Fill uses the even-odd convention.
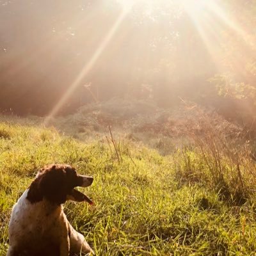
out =
[[[63,203],[88,201],[77,186],[87,187],[92,177],[78,175],[72,166],[42,168],[12,209],[7,256],[73,256],[93,253],[67,220]]]

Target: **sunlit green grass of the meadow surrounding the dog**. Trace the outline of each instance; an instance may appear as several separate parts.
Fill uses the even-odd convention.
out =
[[[254,183],[245,172],[252,163],[242,164],[246,200],[236,204],[236,164],[227,156],[216,167],[207,147],[170,156],[128,140],[116,147],[119,162],[107,140],[83,143],[54,129],[0,123],[0,255],[8,248],[12,205],[50,163],[72,164],[95,178],[83,189],[95,204],[68,202],[65,212],[96,255],[255,255]],[[228,198],[212,174],[222,171]]]

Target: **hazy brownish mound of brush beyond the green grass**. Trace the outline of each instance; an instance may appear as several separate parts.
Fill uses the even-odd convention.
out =
[[[108,125],[131,132],[157,132],[166,136],[179,137],[187,133],[188,127],[195,132],[202,132],[204,118],[211,118],[211,123],[218,129],[237,129],[218,116],[193,102],[181,102],[171,109],[159,108],[151,100],[128,100],[113,98],[107,102],[91,104],[80,108],[74,115],[59,119],[61,127],[76,124],[77,129],[107,131]],[[74,126],[73,126],[74,127]]]

